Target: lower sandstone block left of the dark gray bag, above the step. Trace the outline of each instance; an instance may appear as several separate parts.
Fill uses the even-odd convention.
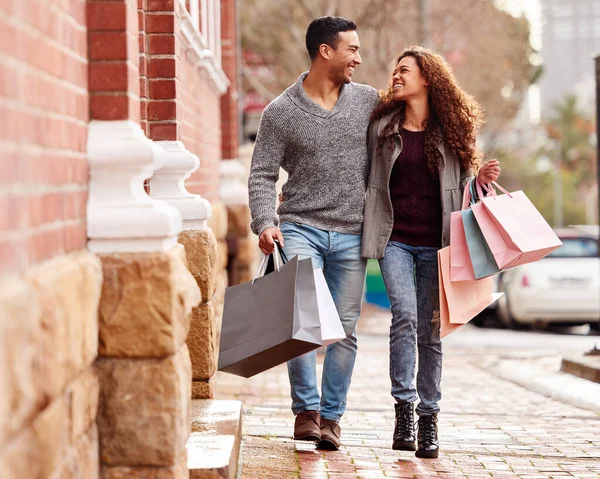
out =
[[[202,303],[192,311],[192,324],[187,339],[194,379],[210,379],[215,374],[217,339],[214,304],[212,301]]]

